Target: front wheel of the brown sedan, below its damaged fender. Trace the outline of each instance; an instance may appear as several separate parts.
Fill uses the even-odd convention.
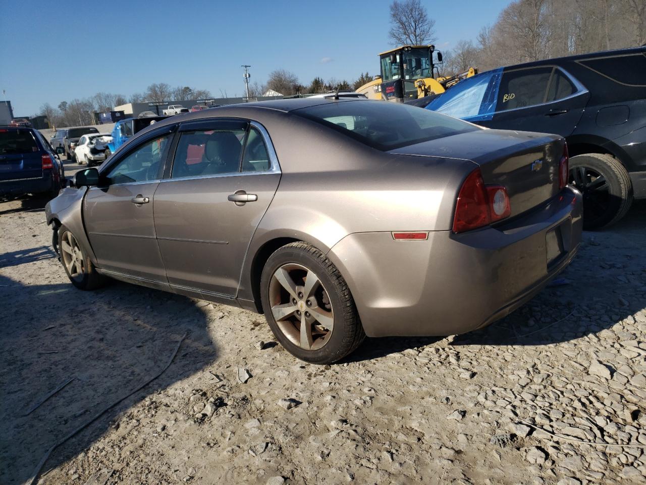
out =
[[[79,290],[95,290],[103,286],[105,279],[96,272],[90,257],[83,251],[78,240],[65,226],[58,230],[58,250],[61,263],[72,285]]]

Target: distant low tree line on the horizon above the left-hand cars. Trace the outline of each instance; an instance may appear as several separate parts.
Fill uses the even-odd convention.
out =
[[[74,98],[62,101],[56,107],[45,103],[39,114],[47,116],[50,126],[84,126],[96,124],[95,113],[112,111],[114,107],[125,103],[161,103],[175,100],[202,100],[212,98],[207,89],[194,89],[189,86],[171,87],[166,83],[152,83],[145,92],[135,92],[129,98],[123,94],[97,92],[89,98]]]

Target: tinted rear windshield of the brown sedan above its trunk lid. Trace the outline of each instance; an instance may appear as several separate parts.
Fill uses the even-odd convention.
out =
[[[385,101],[332,102],[293,113],[383,151],[479,129],[444,114]]]

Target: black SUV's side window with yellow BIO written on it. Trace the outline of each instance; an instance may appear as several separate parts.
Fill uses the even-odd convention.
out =
[[[496,111],[524,108],[545,102],[553,67],[510,70],[503,73]]]

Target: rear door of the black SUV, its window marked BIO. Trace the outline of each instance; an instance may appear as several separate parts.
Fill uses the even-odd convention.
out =
[[[569,136],[589,98],[585,87],[557,67],[504,70],[494,116],[475,123],[489,128]]]

